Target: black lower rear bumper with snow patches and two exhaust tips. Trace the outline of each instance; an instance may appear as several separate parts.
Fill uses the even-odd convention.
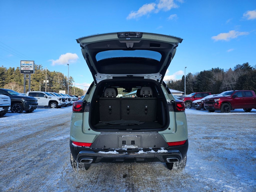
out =
[[[157,152],[157,151],[161,152]],[[75,147],[70,140],[70,151],[74,159],[81,163],[145,163],[179,162],[187,154],[188,140],[184,145],[162,149],[94,150],[90,147]],[[152,152],[154,151],[154,152]],[[115,153],[115,154],[114,154]],[[84,160],[90,159],[90,160]],[[88,162],[86,162],[88,161]]]

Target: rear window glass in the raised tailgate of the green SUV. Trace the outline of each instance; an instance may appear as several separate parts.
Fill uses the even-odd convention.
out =
[[[96,54],[97,61],[100,61],[102,59],[108,59],[108,58],[116,58],[116,57],[142,57],[142,58],[150,58],[150,59],[155,59],[157,61],[160,61],[162,55],[159,52],[149,51],[149,50],[132,50],[132,51],[109,50],[109,51],[102,51]]]

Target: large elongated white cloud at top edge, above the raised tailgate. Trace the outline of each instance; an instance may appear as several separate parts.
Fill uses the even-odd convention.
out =
[[[179,3],[183,3],[183,0],[176,0]],[[158,1],[157,1],[158,2]],[[142,5],[137,11],[131,11],[131,13],[126,17],[126,19],[136,19],[143,15],[149,15],[154,11],[158,13],[160,10],[168,11],[172,8],[179,7],[175,0],[160,0],[158,4],[156,3],[146,3]]]

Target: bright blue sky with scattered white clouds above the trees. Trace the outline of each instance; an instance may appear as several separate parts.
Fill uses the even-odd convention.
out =
[[[212,67],[256,64],[256,1],[1,1],[0,66],[20,60],[69,75],[85,89],[91,73],[76,40],[141,31],[183,38],[166,78]]]

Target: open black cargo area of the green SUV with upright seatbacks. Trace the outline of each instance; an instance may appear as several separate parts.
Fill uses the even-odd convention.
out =
[[[169,117],[165,107],[166,99],[158,82],[112,80],[97,86],[99,88],[95,91],[90,109],[90,125],[93,129],[153,131],[167,125]],[[118,98],[117,88],[119,92],[122,89],[135,89],[136,94]]]

